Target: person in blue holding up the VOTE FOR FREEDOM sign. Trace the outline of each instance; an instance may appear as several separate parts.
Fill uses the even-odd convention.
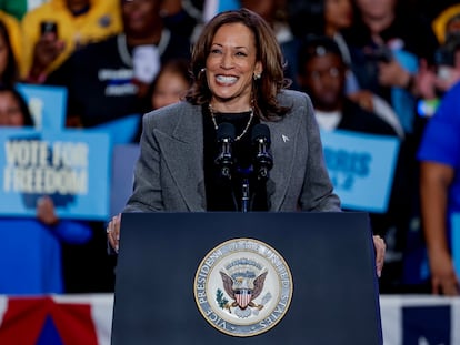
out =
[[[21,94],[0,85],[0,130],[30,126],[33,120]],[[36,217],[0,217],[0,294],[64,293],[61,245],[91,237],[86,222],[59,219],[52,195],[37,199]]]

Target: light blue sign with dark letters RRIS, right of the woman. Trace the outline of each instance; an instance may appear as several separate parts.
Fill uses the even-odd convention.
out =
[[[383,213],[388,209],[399,140],[336,130],[321,131],[326,165],[342,206]]]

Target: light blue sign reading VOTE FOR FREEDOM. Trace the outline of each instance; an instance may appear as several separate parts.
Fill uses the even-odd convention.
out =
[[[0,148],[0,215],[36,216],[49,195],[60,217],[107,219],[108,134],[1,129]]]

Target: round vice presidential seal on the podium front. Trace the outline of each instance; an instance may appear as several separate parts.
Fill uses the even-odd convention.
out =
[[[234,239],[211,250],[194,276],[201,315],[222,333],[247,337],[274,327],[292,298],[292,275],[268,244]]]

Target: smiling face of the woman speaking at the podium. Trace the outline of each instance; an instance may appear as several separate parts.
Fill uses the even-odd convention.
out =
[[[242,23],[220,27],[206,61],[211,103],[228,110],[246,111],[251,103],[252,79],[262,72],[251,30]],[[219,109],[219,106],[217,106]]]

